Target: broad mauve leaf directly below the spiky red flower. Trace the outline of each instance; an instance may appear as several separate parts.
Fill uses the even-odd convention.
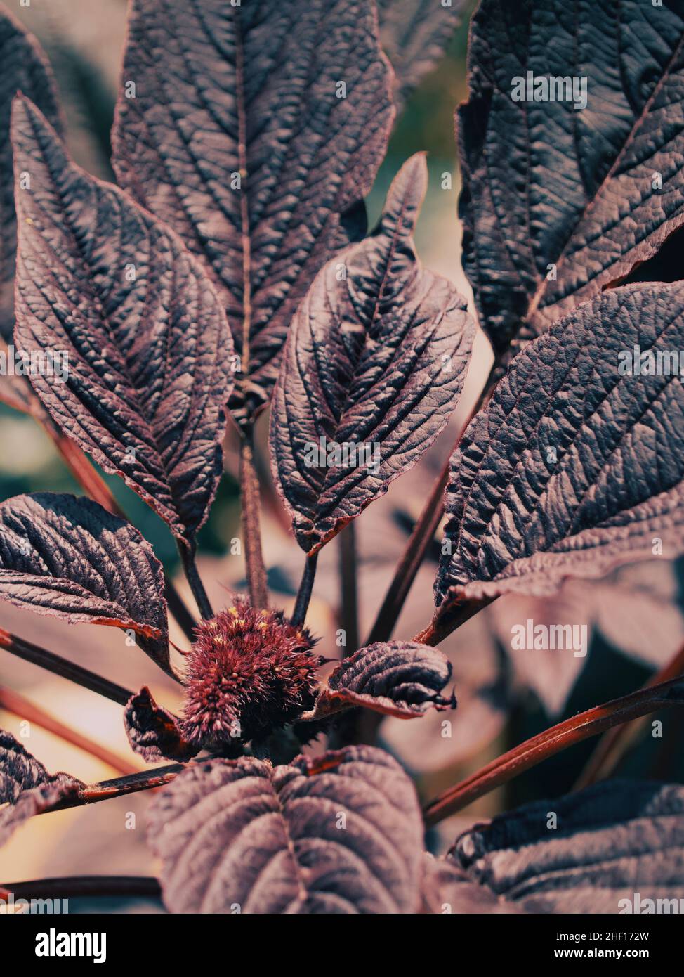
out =
[[[416,792],[370,746],[275,768],[253,758],[195,764],[153,803],[148,839],[174,913],[417,910]]]

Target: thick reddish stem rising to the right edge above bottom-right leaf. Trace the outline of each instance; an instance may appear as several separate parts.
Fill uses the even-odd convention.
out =
[[[488,763],[461,784],[449,787],[430,801],[423,811],[425,825],[428,827],[436,825],[443,818],[456,814],[478,797],[482,797],[483,794],[489,793],[495,787],[505,784],[523,771],[529,770],[530,767],[536,766],[574,743],[581,743],[588,737],[596,736],[637,716],[675,705],[684,705],[682,678],[640,689],[629,696],[603,705],[596,705],[556,726],[551,726],[531,740],[526,740],[525,743],[503,753],[503,756]]]

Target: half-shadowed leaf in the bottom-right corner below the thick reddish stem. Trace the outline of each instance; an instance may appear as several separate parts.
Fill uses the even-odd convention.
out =
[[[677,912],[671,907],[684,899],[684,788],[612,781],[536,801],[466,831],[447,864],[505,912]],[[467,887],[464,906],[452,891],[452,912],[471,912]],[[657,909],[655,900],[669,908]]]

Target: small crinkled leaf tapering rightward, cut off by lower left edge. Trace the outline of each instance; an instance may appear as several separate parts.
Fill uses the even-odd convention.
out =
[[[0,845],[20,824],[78,793],[80,781],[50,775],[42,763],[0,730]]]

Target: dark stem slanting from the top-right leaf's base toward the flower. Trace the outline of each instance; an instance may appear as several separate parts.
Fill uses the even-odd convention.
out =
[[[463,433],[472,418],[492,396],[492,392],[499,382],[499,378],[499,364],[495,360],[477,402],[463,421],[456,442],[449,452],[444,467],[428,496],[414,531],[411,533],[409,541],[406,544],[406,549],[397,564],[392,582],[389,584],[387,593],[382,601],[382,607],[378,612],[376,621],[366,641],[367,645],[372,644],[374,641],[389,641],[392,636],[392,631],[396,626],[411,586],[416,579],[416,574],[421,567],[427,547],[434,538],[437,527],[444,515],[444,492],[449,482],[451,456],[461,444]]]

